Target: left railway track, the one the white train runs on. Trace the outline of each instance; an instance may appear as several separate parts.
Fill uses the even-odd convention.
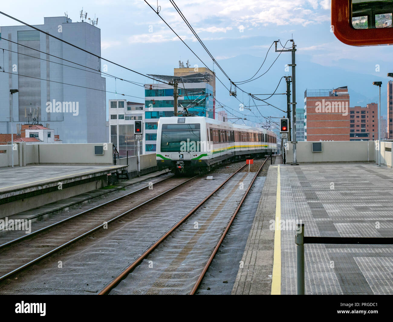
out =
[[[3,243],[0,245],[0,280],[9,278],[18,271],[26,269],[33,263],[105,227],[105,225],[143,205],[147,205],[196,177],[198,176],[188,179],[173,177],[162,179],[154,183],[154,190],[150,190],[151,185],[147,185],[30,234]],[[167,180],[169,179],[173,184],[171,188],[167,189]],[[165,185],[162,184],[163,187],[161,187],[160,183],[163,181],[165,181]],[[143,195],[137,194],[138,192],[143,192]],[[130,197],[133,199],[131,200]]]

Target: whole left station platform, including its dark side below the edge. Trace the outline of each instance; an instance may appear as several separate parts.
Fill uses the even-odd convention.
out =
[[[32,165],[0,168],[0,218],[101,188],[127,165]]]

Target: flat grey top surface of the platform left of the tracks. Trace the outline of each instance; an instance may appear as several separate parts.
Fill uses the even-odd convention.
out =
[[[0,193],[33,185],[112,170],[111,165],[31,165],[0,168]]]

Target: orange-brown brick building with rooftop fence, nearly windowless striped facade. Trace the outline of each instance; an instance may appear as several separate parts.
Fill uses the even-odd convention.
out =
[[[347,86],[304,93],[305,141],[349,141]]]

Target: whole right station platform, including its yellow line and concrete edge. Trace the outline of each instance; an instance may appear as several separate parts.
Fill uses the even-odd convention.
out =
[[[305,236],[393,237],[393,170],[271,165],[232,294],[297,293],[295,222]],[[305,244],[305,294],[393,294],[392,272],[393,245]]]

